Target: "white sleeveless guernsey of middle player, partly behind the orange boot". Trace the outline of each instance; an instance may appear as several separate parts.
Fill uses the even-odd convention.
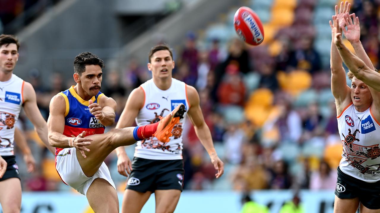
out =
[[[186,84],[172,78],[171,86],[167,90],[159,89],[150,79],[143,83],[140,88],[145,92],[144,107],[136,117],[136,124],[147,125],[160,121],[159,116],[165,117],[180,103],[186,110],[190,108],[187,100]],[[184,128],[187,112],[184,118],[173,128],[173,136],[168,143],[162,143],[152,137],[138,141],[135,149],[135,157],[150,160],[178,160],[182,159],[182,130]]]

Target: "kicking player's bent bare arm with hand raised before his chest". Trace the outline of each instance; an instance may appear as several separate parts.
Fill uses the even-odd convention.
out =
[[[105,126],[111,126],[115,123],[115,111],[117,104],[114,99],[106,96],[101,96],[99,103],[93,103],[89,100],[90,113]]]

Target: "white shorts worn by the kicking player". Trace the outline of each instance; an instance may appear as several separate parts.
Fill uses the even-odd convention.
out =
[[[86,195],[91,183],[97,178],[107,180],[116,190],[115,184],[111,179],[111,174],[104,162],[92,177],[87,177],[83,173],[81,165],[79,165],[74,147],[61,150],[55,158],[55,168],[63,182],[73,187],[79,193]]]

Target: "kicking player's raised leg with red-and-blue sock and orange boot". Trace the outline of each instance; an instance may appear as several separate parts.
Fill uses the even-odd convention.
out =
[[[119,146],[128,146],[136,143],[137,140],[150,138],[155,135],[160,141],[167,142],[171,134],[171,129],[179,122],[179,118],[185,113],[185,105],[177,106],[170,114],[166,115],[161,121],[155,124],[149,124],[142,127],[126,127],[121,129],[112,129],[105,134],[90,135],[92,138],[90,152],[86,153],[83,158],[80,152],[76,152],[79,164],[87,177],[92,177],[104,159],[114,149]]]

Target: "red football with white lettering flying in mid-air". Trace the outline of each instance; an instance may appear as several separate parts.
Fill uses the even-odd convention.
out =
[[[264,41],[263,24],[249,7],[241,7],[236,11],[234,27],[237,35],[248,44],[259,45]]]

